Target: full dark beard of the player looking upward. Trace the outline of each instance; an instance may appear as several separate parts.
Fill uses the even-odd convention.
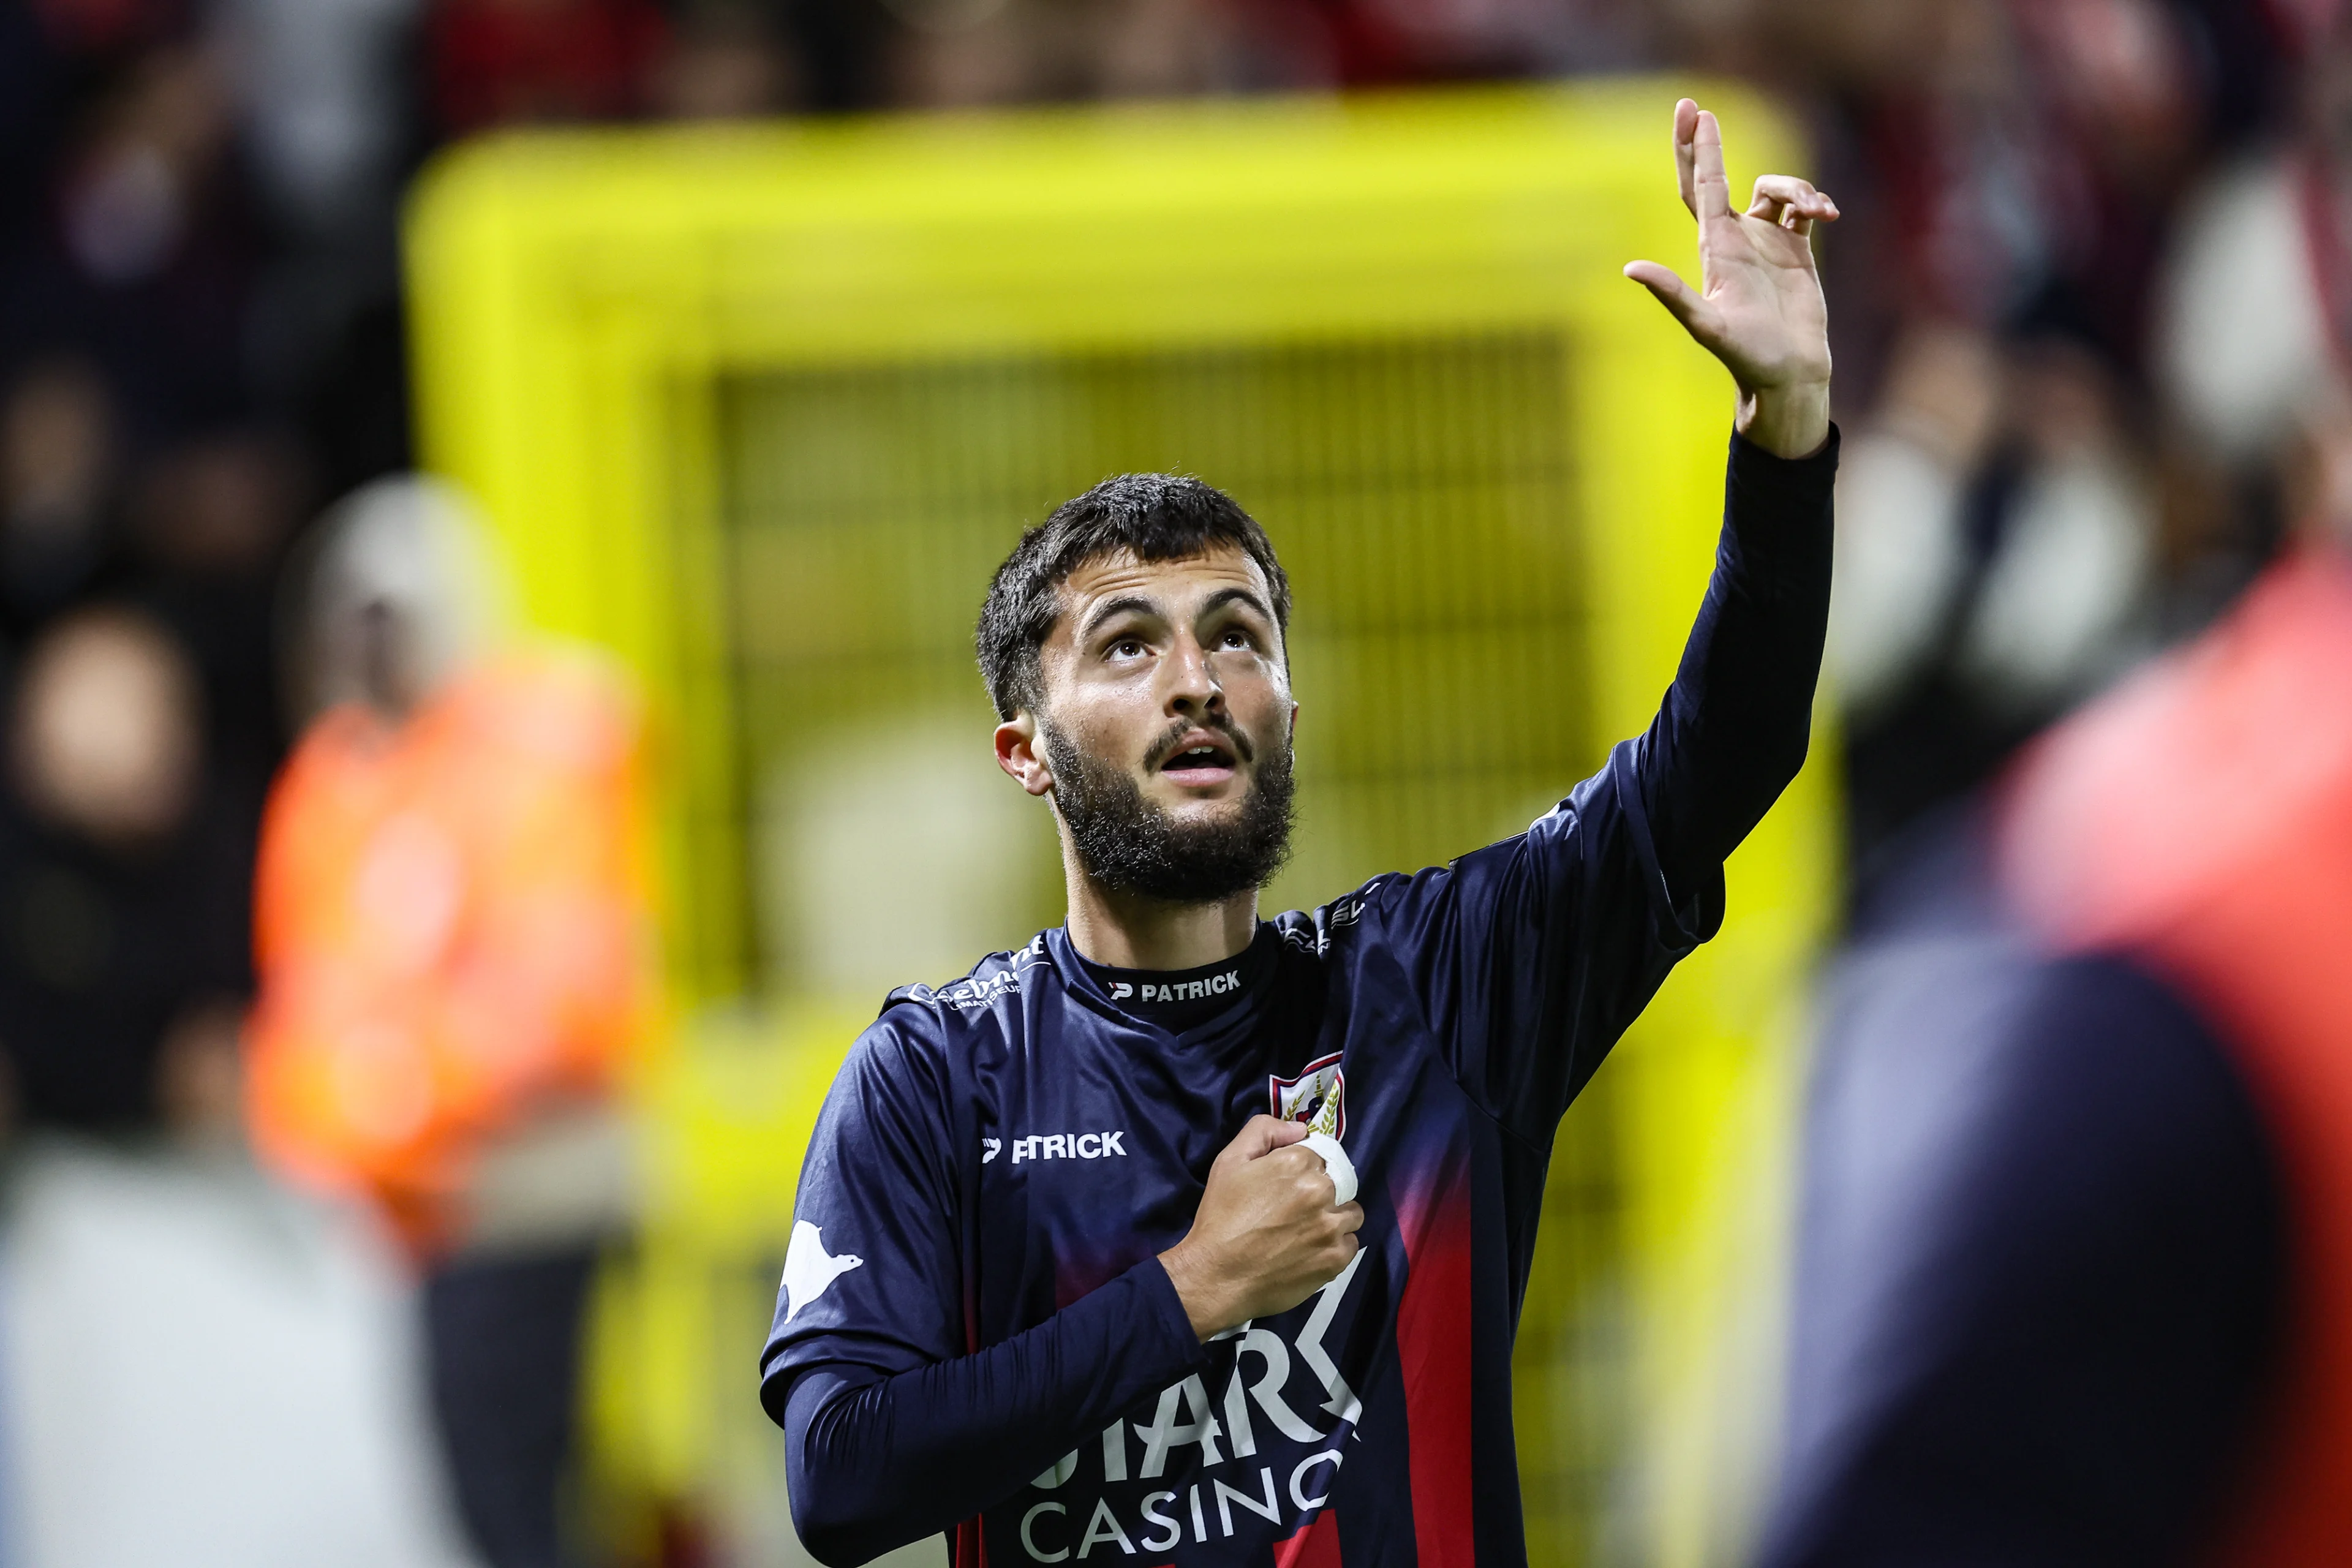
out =
[[[1190,729],[1221,731],[1251,762],[1249,741],[1230,724],[1178,724],[1152,755]],[[1070,835],[1070,849],[1089,877],[1122,893],[1167,903],[1218,903],[1254,893],[1291,853],[1291,748],[1279,741],[1251,769],[1249,795],[1223,820],[1178,823],[1143,799],[1136,780],[1089,755],[1051,724],[1040,726],[1044,759],[1054,769],[1054,806]]]

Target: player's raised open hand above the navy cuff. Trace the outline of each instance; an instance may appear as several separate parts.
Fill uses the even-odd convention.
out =
[[[1698,289],[1656,261],[1625,275],[1658,296],[1740,388],[1740,433],[1785,458],[1830,440],[1830,310],[1813,270],[1813,223],[1837,202],[1790,174],[1757,181],[1748,212],[1731,212],[1724,132],[1691,99],[1675,103],[1682,205],[1698,219]]]

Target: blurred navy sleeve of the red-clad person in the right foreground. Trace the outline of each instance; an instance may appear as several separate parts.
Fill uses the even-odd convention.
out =
[[[1917,827],[1823,990],[1764,1568],[2232,1561],[2286,1276],[2258,1110],[1987,860],[1976,813]]]

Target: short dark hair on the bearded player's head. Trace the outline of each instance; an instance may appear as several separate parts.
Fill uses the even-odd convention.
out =
[[[1275,559],[1275,545],[1258,520],[1214,484],[1174,473],[1122,473],[1056,505],[1004,557],[981,604],[974,646],[997,717],[1042,708],[1044,670],[1037,651],[1054,632],[1061,585],[1073,571],[1105,555],[1181,562],[1218,545],[1232,545],[1258,564],[1275,595],[1275,628],[1289,639],[1291,581]]]

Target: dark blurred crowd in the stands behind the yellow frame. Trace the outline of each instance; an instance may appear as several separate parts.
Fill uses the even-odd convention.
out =
[[[412,463],[400,195],[452,139],[1661,66],[1780,94],[1846,214],[1823,237],[1849,442],[1830,677],[1867,931],[2020,743],[2211,623],[2345,489],[2345,9],[0,0],[12,1138],[240,1145],[252,867],[322,679],[289,562]],[[390,1410],[379,1371],[353,1387]],[[466,1516],[501,1568],[550,1561]]]

